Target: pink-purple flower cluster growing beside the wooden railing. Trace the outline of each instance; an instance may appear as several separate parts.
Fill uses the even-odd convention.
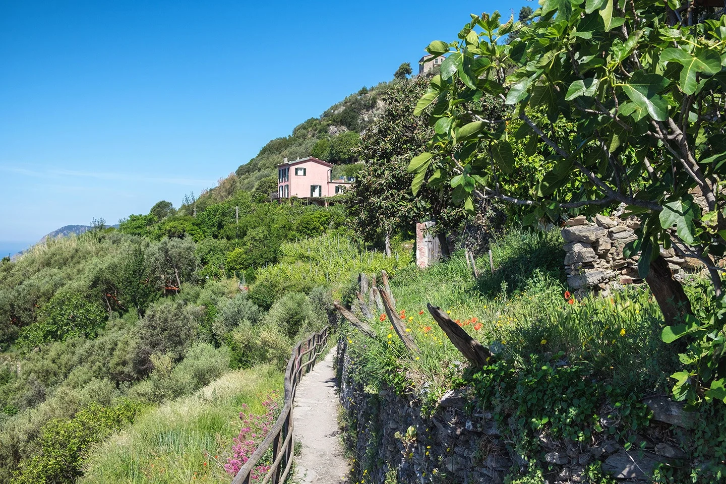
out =
[[[240,472],[242,466],[254,454],[274,424],[275,417],[277,417],[277,407],[279,406],[277,403],[277,395],[274,393],[268,395],[265,401],[262,402],[262,406],[265,408],[265,413],[255,415],[248,411],[247,405],[242,403],[242,411],[240,412],[242,430],[240,430],[240,435],[232,439],[234,440],[232,457],[229,457],[227,464],[224,464],[224,470],[229,472],[229,474],[236,475],[237,472]],[[269,472],[269,469],[269,465],[260,464],[256,466],[250,472],[252,482],[256,482],[264,477]]]

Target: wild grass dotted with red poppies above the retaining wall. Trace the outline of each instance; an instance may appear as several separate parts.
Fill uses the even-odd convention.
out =
[[[661,341],[663,320],[653,297],[645,288],[632,288],[570,303],[564,297],[561,244],[558,231],[510,231],[492,244],[494,274],[488,255],[478,259],[483,272],[478,281],[461,253],[423,271],[394,273],[397,308],[421,352],[409,355],[379,315],[372,326],[383,343],[349,333],[362,373],[431,399],[454,385],[465,361],[428,313],[431,303],[498,358],[527,365],[537,355],[540,361],[584,365],[618,385],[666,391],[677,358]]]

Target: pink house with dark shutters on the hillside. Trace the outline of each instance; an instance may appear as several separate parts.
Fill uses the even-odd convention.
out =
[[[314,157],[285,161],[277,165],[277,194],[280,198],[322,198],[343,193],[351,181],[333,180],[333,165]]]

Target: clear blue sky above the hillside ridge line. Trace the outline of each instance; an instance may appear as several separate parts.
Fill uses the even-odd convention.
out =
[[[178,206],[518,1],[0,0],[0,244]]]

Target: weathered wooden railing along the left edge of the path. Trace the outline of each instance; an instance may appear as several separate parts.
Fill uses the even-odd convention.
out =
[[[269,471],[261,477],[261,484],[284,483],[290,468],[293,467],[293,401],[295,390],[304,374],[315,366],[318,356],[327,345],[330,328],[325,327],[321,332],[310,335],[295,345],[285,370],[285,403],[282,413],[277,417],[272,429],[269,430],[257,450],[245,462],[240,472],[232,479],[232,484],[250,484],[250,475],[260,465],[260,460],[272,448],[272,464]]]

